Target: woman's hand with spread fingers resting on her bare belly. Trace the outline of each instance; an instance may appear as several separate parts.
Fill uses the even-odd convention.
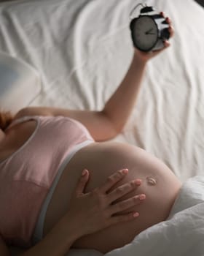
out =
[[[117,182],[121,181],[128,173],[127,169],[119,170],[107,178],[105,184],[84,193],[89,179],[89,172],[84,170],[84,175],[79,178],[74,193],[69,203],[69,210],[64,218],[73,219],[80,236],[95,233],[119,222],[128,222],[139,213],[130,211],[127,214],[119,214],[128,208],[138,205],[145,199],[145,195],[135,195],[117,202],[117,200],[136,190],[141,185],[141,180],[136,179],[112,189]]]

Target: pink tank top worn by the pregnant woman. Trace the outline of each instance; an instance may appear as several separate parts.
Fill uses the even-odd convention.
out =
[[[31,237],[52,182],[71,149],[94,141],[79,121],[63,116],[27,116],[36,129],[15,153],[0,162],[0,235],[8,245],[31,246]]]

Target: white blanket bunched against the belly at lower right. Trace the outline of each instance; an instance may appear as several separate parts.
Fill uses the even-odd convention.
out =
[[[144,230],[106,256],[203,256],[204,177],[186,181],[165,222]]]

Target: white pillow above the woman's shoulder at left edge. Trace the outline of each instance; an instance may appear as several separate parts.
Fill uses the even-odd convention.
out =
[[[17,110],[28,106],[39,94],[39,73],[21,59],[0,51],[0,109]]]

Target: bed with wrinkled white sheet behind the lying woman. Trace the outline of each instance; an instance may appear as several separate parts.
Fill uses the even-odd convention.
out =
[[[23,68],[31,74],[30,83],[19,83],[24,86],[20,95],[12,81],[6,97],[15,104],[1,100],[0,107],[101,110],[130,64],[129,14],[140,2],[1,2],[0,56],[18,61],[19,79],[24,79]],[[204,167],[204,9],[193,0],[145,2],[170,16],[175,36],[171,47],[147,64],[133,113],[113,140],[144,148],[184,182],[202,176]],[[86,253],[98,254],[73,250],[68,256]]]

